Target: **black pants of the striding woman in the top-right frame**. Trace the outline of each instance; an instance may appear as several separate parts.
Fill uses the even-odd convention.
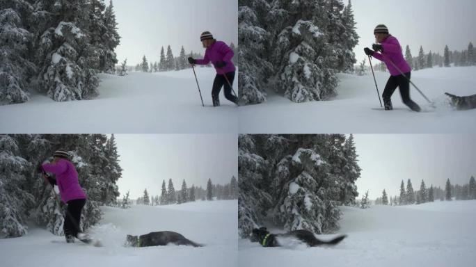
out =
[[[410,79],[411,72],[405,73],[405,76]],[[395,89],[399,87],[400,95],[402,95],[402,101],[404,102],[404,104],[406,104],[406,106],[411,108],[411,110],[413,111],[420,111],[420,106],[418,106],[418,104],[416,104],[410,99],[410,81],[408,81],[405,76],[398,75],[390,76],[390,78],[388,78],[387,84],[382,94],[383,104],[385,104],[386,110],[392,109],[391,97],[393,95],[393,92],[395,92]]]

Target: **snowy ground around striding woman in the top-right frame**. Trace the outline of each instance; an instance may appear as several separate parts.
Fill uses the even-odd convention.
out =
[[[436,103],[427,113],[411,112],[398,89],[392,95],[394,111],[380,108],[372,72],[366,76],[339,74],[335,99],[294,103],[269,92],[263,104],[239,108],[241,133],[475,133],[476,109],[453,111],[445,103],[444,92],[476,94],[476,67],[434,67],[412,72],[412,81]],[[382,94],[388,72],[376,72]],[[428,109],[427,101],[411,87],[412,99]]]

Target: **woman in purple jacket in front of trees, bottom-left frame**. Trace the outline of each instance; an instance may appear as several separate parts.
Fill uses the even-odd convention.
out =
[[[68,204],[66,209],[65,232],[66,242],[74,243],[74,237],[78,237],[81,211],[86,204],[86,194],[79,186],[78,172],[69,161],[70,155],[63,150],[57,150],[53,154],[54,160],[51,163],[42,165],[42,169],[56,175],[56,179],[47,177],[51,185],[57,184],[61,200]]]

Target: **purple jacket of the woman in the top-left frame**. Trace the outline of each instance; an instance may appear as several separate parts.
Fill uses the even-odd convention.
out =
[[[231,62],[231,59],[235,53],[233,53],[232,49],[228,47],[225,42],[216,41],[205,50],[205,56],[203,59],[197,59],[195,61],[198,65],[207,65],[210,61],[212,61],[213,66],[215,67],[216,73],[224,74],[228,72],[235,72],[236,68],[235,65]],[[224,61],[226,63],[225,67],[221,69],[215,66],[215,63],[218,61]]]

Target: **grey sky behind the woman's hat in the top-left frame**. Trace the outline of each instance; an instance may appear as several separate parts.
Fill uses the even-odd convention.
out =
[[[182,45],[186,53],[205,53],[200,34],[210,31],[214,38],[237,45],[237,0],[113,0],[120,45],[118,60],[136,65],[145,55],[159,62],[160,49],[170,44],[174,56]]]

